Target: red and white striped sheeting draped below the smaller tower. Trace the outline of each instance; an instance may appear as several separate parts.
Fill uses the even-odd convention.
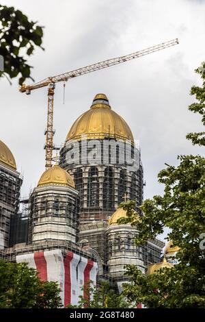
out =
[[[40,251],[16,256],[16,262],[27,262],[38,271],[42,281],[55,281],[61,288],[61,301],[64,306],[77,304],[79,295],[85,296],[87,282],[96,284],[98,264],[71,251],[62,256],[60,249]]]

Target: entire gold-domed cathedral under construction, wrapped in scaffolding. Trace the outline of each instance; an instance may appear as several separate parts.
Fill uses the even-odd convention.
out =
[[[57,281],[64,306],[77,304],[88,281],[122,290],[126,264],[148,273],[161,262],[165,243],[135,245],[137,230],[118,224],[122,201],[136,201],[143,216],[143,165],[130,127],[109,104],[94,97],[74,121],[53,166],[40,173],[29,197],[23,178],[0,140],[0,257],[28,262],[42,280]]]

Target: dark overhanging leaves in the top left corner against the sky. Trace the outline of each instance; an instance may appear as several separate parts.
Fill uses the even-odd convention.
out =
[[[31,77],[31,66],[27,57],[36,47],[42,48],[42,27],[29,21],[27,16],[14,7],[0,4],[0,55],[4,59],[4,72],[10,78],[20,75],[19,84]]]

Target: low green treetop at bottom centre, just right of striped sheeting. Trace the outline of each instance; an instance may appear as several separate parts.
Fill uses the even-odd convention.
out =
[[[84,286],[82,287],[84,290]],[[109,286],[109,282],[101,282],[95,286],[91,281],[85,285],[85,294],[79,297],[77,306],[68,306],[69,308],[131,308],[131,303],[119,295]]]

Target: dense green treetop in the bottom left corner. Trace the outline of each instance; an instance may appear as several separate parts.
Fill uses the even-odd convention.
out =
[[[41,282],[26,263],[0,262],[0,308],[59,308],[56,282]]]

